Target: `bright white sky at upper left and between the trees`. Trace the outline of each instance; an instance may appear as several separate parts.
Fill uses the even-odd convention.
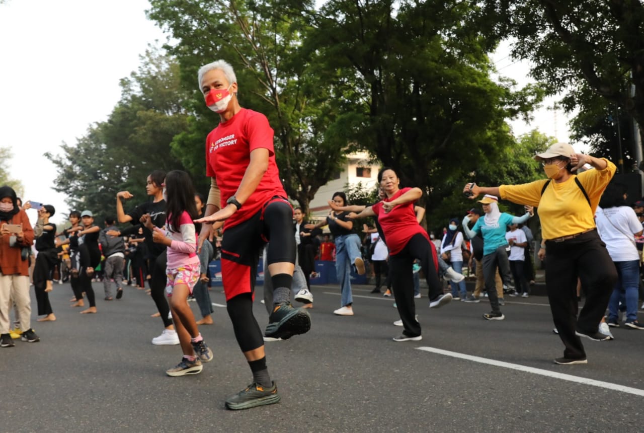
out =
[[[88,127],[108,118],[120,99],[118,82],[137,70],[149,44],[166,35],[146,18],[147,0],[6,0],[0,4],[0,146],[12,150],[12,178],[23,200],[49,203],[61,215],[66,196],[53,191],[58,168],[44,153],[62,153]],[[498,72],[529,79],[529,64],[508,57],[509,44],[492,56]],[[568,140],[567,119],[549,99],[531,124],[511,122],[515,135],[538,128]],[[35,211],[30,211],[35,219]],[[59,219],[54,216],[54,221]]]

